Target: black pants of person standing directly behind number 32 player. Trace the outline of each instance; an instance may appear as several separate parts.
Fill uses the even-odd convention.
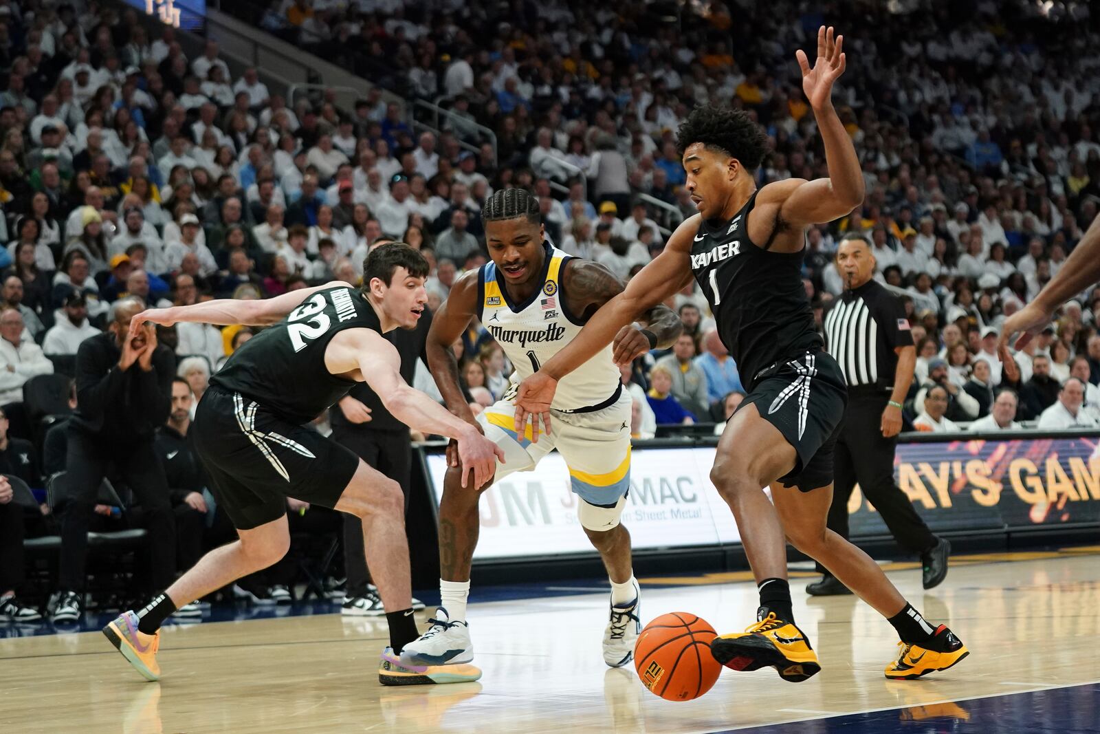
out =
[[[339,409],[339,408],[337,408]],[[355,452],[369,467],[402,485],[405,511],[409,507],[409,478],[413,469],[413,441],[408,429],[373,430],[358,424],[336,424],[332,438]],[[363,521],[344,515],[344,572],[348,574],[348,596],[362,596],[371,573],[363,550]]]

